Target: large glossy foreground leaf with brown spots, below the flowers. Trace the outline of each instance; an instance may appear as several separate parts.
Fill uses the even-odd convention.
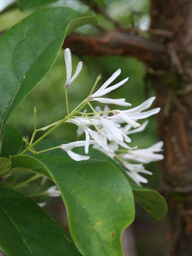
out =
[[[62,193],[71,236],[83,255],[123,255],[121,233],[133,221],[135,206],[127,179],[114,165],[48,155],[13,156],[11,160],[13,170],[35,168],[44,174],[42,166],[46,166]]]

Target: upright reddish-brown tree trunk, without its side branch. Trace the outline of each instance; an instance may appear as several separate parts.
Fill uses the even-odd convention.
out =
[[[169,69],[156,84],[160,139],[165,144],[161,164],[162,192],[168,211],[168,255],[192,255],[192,3],[153,0],[151,27],[174,33],[165,41]],[[157,39],[156,39],[157,40]]]

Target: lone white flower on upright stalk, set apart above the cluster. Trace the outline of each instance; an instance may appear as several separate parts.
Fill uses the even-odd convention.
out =
[[[76,77],[78,77],[79,73],[81,72],[82,69],[82,61],[78,63],[78,66],[76,67],[76,71],[71,77],[72,73],[72,61],[71,61],[71,51],[69,48],[66,48],[64,51],[64,57],[65,57],[65,64],[66,64],[66,82],[65,82],[65,87],[69,88],[70,84],[75,80]]]

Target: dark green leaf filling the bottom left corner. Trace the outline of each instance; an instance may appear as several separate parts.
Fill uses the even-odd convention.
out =
[[[8,256],[79,255],[69,235],[34,201],[0,189],[0,246]]]

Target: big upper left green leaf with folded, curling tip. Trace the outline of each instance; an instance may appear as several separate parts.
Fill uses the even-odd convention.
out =
[[[95,22],[69,7],[44,8],[0,37],[0,138],[13,110],[52,67],[68,29]]]

